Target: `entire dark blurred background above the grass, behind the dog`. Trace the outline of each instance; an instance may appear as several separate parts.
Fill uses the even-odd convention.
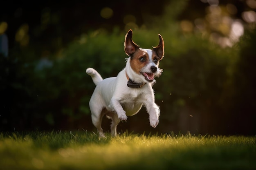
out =
[[[132,29],[142,48],[164,38],[161,115],[154,129],[143,108],[119,132],[255,135],[255,10],[256,0],[0,2],[0,130],[95,132],[85,70],[116,76]]]

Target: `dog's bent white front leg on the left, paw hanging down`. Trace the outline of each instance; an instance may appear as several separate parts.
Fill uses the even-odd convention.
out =
[[[127,120],[126,112],[124,111],[124,108],[121,106],[119,99],[112,97],[109,107],[112,111],[115,111],[117,113],[117,116],[120,120]]]

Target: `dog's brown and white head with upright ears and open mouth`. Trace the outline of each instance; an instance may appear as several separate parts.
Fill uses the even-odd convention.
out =
[[[130,56],[130,67],[136,73],[132,79],[137,82],[153,82],[155,77],[159,77],[162,69],[158,68],[159,61],[164,57],[164,40],[160,34],[159,44],[150,49],[141,49],[132,41],[132,30],[125,36],[124,51]]]

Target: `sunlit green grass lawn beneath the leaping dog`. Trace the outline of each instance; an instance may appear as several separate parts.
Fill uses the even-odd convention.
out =
[[[2,170],[256,169],[256,137],[89,132],[0,134]]]

